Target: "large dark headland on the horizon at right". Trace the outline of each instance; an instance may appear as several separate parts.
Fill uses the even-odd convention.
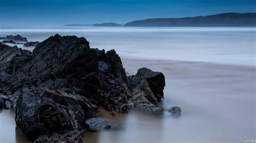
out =
[[[152,27],[253,27],[256,26],[256,13],[221,13],[219,15],[184,17],[184,18],[152,18],[136,20],[125,26]]]

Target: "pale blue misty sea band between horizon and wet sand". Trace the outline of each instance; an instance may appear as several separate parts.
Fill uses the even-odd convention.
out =
[[[21,34],[29,41],[57,33],[85,37],[92,48],[116,49],[123,57],[255,66],[255,27],[0,28],[0,37]]]

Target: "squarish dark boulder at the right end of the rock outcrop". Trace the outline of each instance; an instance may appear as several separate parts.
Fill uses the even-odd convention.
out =
[[[129,106],[146,111],[162,111],[156,104],[164,96],[163,73],[140,68],[136,75],[128,77],[131,84]]]

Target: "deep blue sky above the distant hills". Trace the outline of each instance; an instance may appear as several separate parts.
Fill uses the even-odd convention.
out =
[[[61,26],[225,12],[255,12],[256,0],[0,0],[0,27]]]

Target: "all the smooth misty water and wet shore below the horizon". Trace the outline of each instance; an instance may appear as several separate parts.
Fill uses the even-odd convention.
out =
[[[166,77],[162,114],[112,116],[100,110],[96,116],[106,118],[112,129],[86,132],[85,142],[256,139],[255,28],[0,29],[0,37],[21,34],[32,41],[56,33],[84,36],[92,48],[116,49],[130,74],[148,67]],[[167,111],[174,105],[181,107],[180,117]],[[0,142],[27,141],[15,130],[14,116],[11,110],[0,112]]]

